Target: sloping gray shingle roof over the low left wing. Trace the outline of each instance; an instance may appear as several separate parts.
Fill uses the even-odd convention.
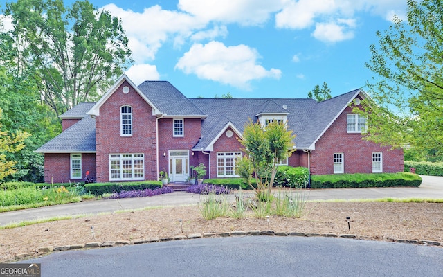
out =
[[[86,116],[54,139],[35,150],[41,153],[75,153],[96,151],[96,119]]]

